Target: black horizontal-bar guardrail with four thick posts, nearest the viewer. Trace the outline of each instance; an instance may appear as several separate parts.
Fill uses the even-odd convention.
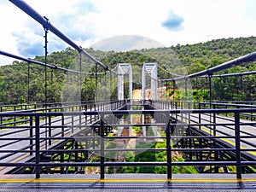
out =
[[[148,102],[150,103],[150,102]],[[124,104],[124,103],[123,103]],[[234,121],[233,122],[207,122],[201,119],[198,120],[190,120],[189,122],[175,121],[170,118],[176,114],[187,114],[187,115],[202,115],[203,113],[210,113],[212,115],[217,115],[218,113],[233,113]],[[245,166],[256,166],[255,159],[243,159],[243,155],[241,154],[252,154],[256,151],[256,146],[253,142],[249,142],[249,140],[255,141],[256,134],[250,132],[247,135],[241,134],[241,131],[245,126],[252,126],[255,123],[243,123],[240,120],[241,113],[256,113],[256,109],[195,109],[195,110],[120,110],[120,111],[84,111],[84,112],[64,112],[64,113],[0,113],[1,117],[27,117],[31,119],[30,125],[26,126],[11,126],[4,127],[7,130],[3,130],[0,132],[0,166],[24,166],[24,167],[34,167],[36,177],[39,178],[41,175],[42,167],[68,167],[68,166],[98,166],[100,167],[100,177],[104,178],[105,168],[113,167],[113,166],[164,166],[166,167],[167,178],[172,178],[172,166],[236,166],[236,177],[241,178],[242,167]],[[132,126],[139,127],[140,130],[143,130],[145,126],[157,126],[158,131],[160,131],[160,135],[143,135],[143,136],[122,136],[122,135],[113,135],[110,134],[109,128],[115,127],[131,127],[131,124],[119,125],[115,123],[112,119],[114,117],[121,117],[124,115],[131,114],[143,114],[143,115],[151,115],[154,117],[156,122],[154,123],[134,123]],[[90,119],[91,116],[99,116],[100,120],[98,124],[90,125],[86,124],[85,119]],[[59,117],[59,124],[45,124],[41,122],[40,119],[42,117]],[[111,118],[113,117],[113,118]],[[70,121],[63,121],[63,119],[72,119]],[[79,123],[74,123],[76,122]],[[231,126],[234,128],[233,133],[225,133],[223,131],[224,126]],[[207,128],[208,127],[208,128]],[[209,127],[211,129],[209,129]],[[196,128],[198,130],[206,130],[207,132],[214,132],[214,134],[206,134],[206,135],[189,135],[186,130],[190,128]],[[131,129],[133,129],[131,127]],[[13,131],[11,131],[13,130]],[[55,132],[53,132],[55,130]],[[90,134],[90,131],[96,131],[96,134]],[[4,131],[10,131],[9,133],[5,133]],[[21,131],[27,131],[28,134],[22,136],[20,134]],[[49,134],[49,131],[52,131]],[[88,134],[83,135],[80,134],[81,131],[88,131]],[[254,128],[253,128],[254,131]],[[47,132],[47,134],[46,134]],[[185,133],[186,132],[186,133]],[[177,134],[174,134],[177,133]],[[16,137],[15,134],[19,134],[20,137]],[[80,149],[55,149],[55,148],[45,148],[42,147],[42,143],[46,143],[49,141],[68,141],[68,140],[79,140],[79,141],[94,141],[94,147],[91,147],[90,144],[84,145],[84,148]],[[122,139],[123,141],[128,139],[135,139],[141,142],[143,141],[152,141],[152,140],[160,140],[162,143],[165,143],[164,148],[108,148],[108,143],[113,140]],[[183,145],[180,145],[179,148],[173,147],[173,141],[181,141],[192,143],[191,148],[183,148]],[[225,148],[214,147],[209,148],[208,146],[205,148],[195,148],[193,147],[193,143],[215,143],[217,140],[227,140],[231,139],[234,143],[233,145],[227,145]],[[9,143],[7,143],[9,141]],[[172,142],[171,142],[172,141]],[[20,148],[9,148],[6,147],[14,144],[14,143],[26,143],[26,145],[20,145]],[[85,142],[86,143],[86,142]],[[246,147],[242,147],[243,144],[246,143]],[[22,146],[22,147],[21,147]],[[189,145],[186,145],[189,146]],[[203,145],[202,145],[203,146]],[[118,153],[122,152],[142,152],[142,151],[152,151],[152,153],[157,151],[164,151],[165,158],[162,161],[122,161],[119,158],[115,157],[114,161],[109,160],[106,156],[108,153]],[[79,153],[81,151],[93,151],[98,154],[98,159],[96,162],[45,162],[42,161],[43,154],[50,153]],[[195,160],[191,159],[189,161],[177,162],[172,160],[173,153],[186,153],[190,154],[201,153],[201,154],[223,154],[221,155],[226,158],[230,154],[235,154],[233,159],[221,159],[216,158],[214,160],[210,159],[201,159]],[[8,158],[10,154],[29,154],[34,161],[29,162],[14,162],[9,161]],[[9,156],[8,156],[9,155]]]

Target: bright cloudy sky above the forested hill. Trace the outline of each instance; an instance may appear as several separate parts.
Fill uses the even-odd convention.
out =
[[[255,0],[24,0],[75,44],[142,49],[256,36]],[[44,55],[44,28],[9,0],[0,1],[0,50]],[[49,53],[69,47],[49,32]],[[6,60],[0,57],[0,65]]]

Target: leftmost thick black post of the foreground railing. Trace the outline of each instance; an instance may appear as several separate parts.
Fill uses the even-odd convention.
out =
[[[39,167],[39,162],[40,162],[40,121],[39,121],[39,116],[36,115],[36,157],[35,157],[35,166],[36,166],[36,178],[40,178],[40,167]]]

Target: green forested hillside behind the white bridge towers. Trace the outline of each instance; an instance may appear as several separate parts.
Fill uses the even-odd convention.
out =
[[[117,63],[131,63],[133,66],[143,66],[143,62],[157,62],[160,67],[172,73],[187,74],[196,73],[256,51],[256,38],[218,39],[201,44],[178,44],[170,48],[141,49],[128,52],[103,52],[94,49],[86,49],[86,51],[109,68],[115,67]],[[37,56],[34,59],[44,62],[44,55]],[[48,56],[48,63],[58,67],[72,68],[73,63],[78,60],[78,52],[70,48],[51,53]],[[96,68],[93,64],[86,64],[89,61],[84,58],[82,60],[85,72],[95,72]],[[255,62],[252,62],[241,67],[230,68],[222,73],[253,71],[256,69],[255,64]],[[98,70],[103,72],[101,67]],[[28,78],[28,73],[30,78]],[[137,73],[140,73],[139,70],[137,70]],[[61,102],[62,88],[67,75],[67,73],[61,71],[47,69],[48,102]],[[159,75],[161,79],[172,78],[167,73],[160,72]],[[207,90],[206,79],[193,79],[191,82],[193,88]],[[253,75],[244,76],[242,79],[239,77],[214,78],[212,79],[212,98],[221,100],[255,100],[255,82]],[[12,65],[2,66],[0,67],[0,89],[1,104],[44,102],[44,67],[23,61],[15,61]],[[82,84],[82,100],[94,99],[95,89],[96,79],[89,76],[86,77]],[[134,89],[139,89],[139,85],[135,85]],[[204,96],[201,99],[207,100],[208,97]]]

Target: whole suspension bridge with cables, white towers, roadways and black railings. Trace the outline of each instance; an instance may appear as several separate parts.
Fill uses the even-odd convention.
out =
[[[214,78],[255,74],[214,73],[256,61],[256,52],[189,75],[168,72],[158,63],[143,63],[139,72],[142,94],[135,99],[130,63],[120,61],[110,69],[24,1],[10,2],[44,27],[45,59],[34,61],[2,50],[0,55],[27,62],[28,79],[31,65],[44,67],[45,102],[0,106],[3,191],[256,188],[256,105],[214,101],[211,89]],[[48,63],[48,32],[78,51],[79,67]],[[83,57],[93,63],[93,73],[83,71]],[[70,74],[60,103],[49,102],[47,68]],[[160,71],[173,78],[160,79]],[[81,101],[86,75],[96,79],[95,101]],[[104,78],[97,79],[99,75]],[[190,79],[207,79],[209,101],[190,99]],[[76,89],[69,84],[76,84]],[[170,100],[168,90],[178,88],[186,99],[173,95]],[[137,173],[127,173],[124,167]],[[148,172],[148,167],[162,174]],[[174,174],[177,167],[194,167],[197,173]]]

